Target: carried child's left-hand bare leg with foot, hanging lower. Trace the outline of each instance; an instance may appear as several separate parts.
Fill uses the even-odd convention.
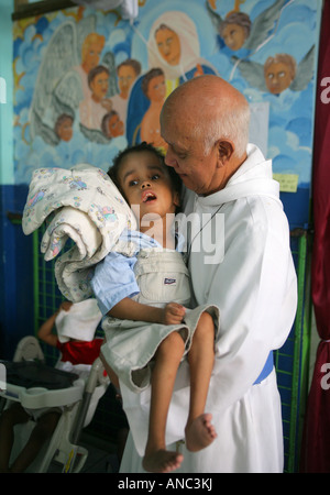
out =
[[[143,468],[154,473],[168,473],[179,468],[183,455],[169,452],[165,446],[167,413],[177,369],[185,343],[178,332],[170,333],[158,346],[152,374],[148,438]]]

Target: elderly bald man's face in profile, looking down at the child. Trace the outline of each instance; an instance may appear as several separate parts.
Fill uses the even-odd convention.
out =
[[[178,116],[177,116],[178,117]],[[161,134],[167,143],[165,163],[180,176],[188,189],[199,195],[209,195],[217,172],[218,152],[212,146],[208,155],[204,154],[204,144],[190,138],[191,123],[178,117],[161,118]]]

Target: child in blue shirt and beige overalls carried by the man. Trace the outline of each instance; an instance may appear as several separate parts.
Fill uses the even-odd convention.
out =
[[[132,256],[109,253],[91,280],[101,312],[107,315],[101,355],[114,383],[118,375],[134,392],[151,384],[143,468],[169,472],[183,461],[180,453],[166,450],[165,431],[176,373],[185,355],[190,370],[186,447],[198,451],[217,436],[211,415],[205,414],[217,308],[185,307],[190,299],[189,276],[182,253],[175,250],[174,231],[180,182],[163,155],[142,143],[120,153],[108,173],[140,220],[140,232],[127,231],[120,239],[132,243]]]

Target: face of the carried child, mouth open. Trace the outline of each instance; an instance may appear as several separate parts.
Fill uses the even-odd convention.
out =
[[[163,218],[179,206],[179,195],[174,191],[167,167],[150,151],[127,155],[119,182],[132,210],[138,215],[140,208],[140,220],[145,215],[151,219],[151,213]]]

